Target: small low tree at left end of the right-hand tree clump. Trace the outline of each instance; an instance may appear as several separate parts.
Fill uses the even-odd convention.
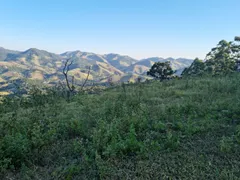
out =
[[[203,75],[205,70],[205,64],[202,60],[196,58],[189,68],[185,68],[182,72],[182,76],[188,75]]]

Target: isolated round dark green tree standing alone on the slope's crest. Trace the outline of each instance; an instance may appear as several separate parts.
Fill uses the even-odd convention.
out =
[[[147,75],[163,81],[173,75],[174,71],[171,68],[170,62],[156,62],[151,69],[147,72]]]

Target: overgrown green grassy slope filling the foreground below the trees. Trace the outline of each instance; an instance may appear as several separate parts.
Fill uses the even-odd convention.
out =
[[[239,74],[182,79],[125,85],[70,102],[35,96],[21,105],[5,103],[2,177],[238,179],[239,80]]]

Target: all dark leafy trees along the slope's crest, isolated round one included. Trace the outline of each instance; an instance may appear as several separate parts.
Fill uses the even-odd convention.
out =
[[[240,37],[235,41],[221,40],[216,47],[206,55],[205,60],[196,58],[190,67],[185,68],[182,76],[221,75],[235,72],[239,69],[240,61]],[[170,62],[156,62],[147,75],[163,81],[171,78],[174,74]]]

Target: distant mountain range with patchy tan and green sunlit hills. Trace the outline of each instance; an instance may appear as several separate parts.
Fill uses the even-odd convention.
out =
[[[100,55],[82,51],[55,54],[36,48],[21,52],[0,47],[0,92],[11,89],[13,81],[23,79],[40,80],[46,84],[63,81],[62,69],[69,58],[73,61],[69,76],[74,76],[77,83],[87,77],[89,66],[89,81],[105,83],[109,78],[114,82],[135,81],[139,77],[145,80],[148,78],[146,72],[159,61],[170,61],[176,74],[181,74],[182,70],[193,62],[191,59],[159,57],[137,60],[113,53]]]

